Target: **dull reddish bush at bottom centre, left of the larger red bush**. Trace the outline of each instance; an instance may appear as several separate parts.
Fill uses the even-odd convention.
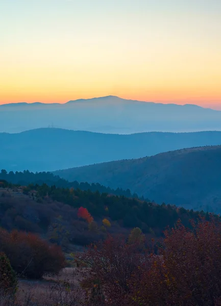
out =
[[[89,305],[124,305],[130,292],[129,279],[143,260],[137,245],[127,244],[124,237],[113,239],[109,236],[78,254],[77,261],[84,263],[80,269],[81,286],[87,292]],[[85,264],[90,269],[85,269]]]

